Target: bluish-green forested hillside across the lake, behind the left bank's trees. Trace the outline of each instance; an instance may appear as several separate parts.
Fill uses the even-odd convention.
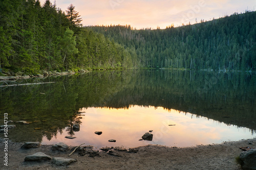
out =
[[[125,46],[141,67],[256,70],[256,12],[160,30],[94,26]]]

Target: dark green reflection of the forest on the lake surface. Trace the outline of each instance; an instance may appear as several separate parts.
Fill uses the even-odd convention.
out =
[[[130,105],[175,109],[256,129],[251,123],[256,119],[254,74],[127,69],[92,71],[46,81],[55,83],[0,87],[0,115],[9,113],[8,119],[14,121],[39,120],[30,125],[18,124],[10,133],[12,140],[41,141],[44,136],[51,140],[67,127],[72,136],[73,125],[81,124],[81,108]],[[35,127],[41,129],[35,131]]]

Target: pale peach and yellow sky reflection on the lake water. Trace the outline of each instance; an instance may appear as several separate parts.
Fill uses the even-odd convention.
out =
[[[129,109],[88,108],[81,109],[80,131],[74,132],[77,138],[67,139],[66,130],[58,133],[57,138],[42,144],[65,142],[68,145],[94,145],[101,147],[139,147],[146,144],[161,144],[169,147],[190,147],[198,144],[221,143],[228,140],[240,140],[256,137],[247,128],[227,126],[206,117],[196,117],[190,113],[176,110],[164,110],[162,107],[132,106]],[[168,126],[175,125],[175,126]],[[141,136],[153,130],[152,141],[139,141]],[[102,131],[96,135],[95,131]],[[116,139],[116,142],[108,142]]]

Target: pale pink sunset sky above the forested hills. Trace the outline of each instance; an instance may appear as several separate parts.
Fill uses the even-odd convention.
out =
[[[41,5],[44,4],[41,0]],[[54,0],[51,0],[54,4]],[[70,4],[82,17],[83,26],[131,25],[134,29],[165,29],[212,20],[234,12],[255,11],[256,0],[55,0],[57,8]]]

